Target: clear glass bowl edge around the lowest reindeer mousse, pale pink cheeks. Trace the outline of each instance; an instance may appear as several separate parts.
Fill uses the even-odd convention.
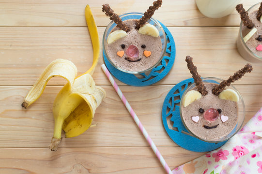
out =
[[[216,84],[220,84],[223,80],[222,79],[219,79],[219,78],[215,78],[215,77],[208,77],[208,78],[203,78],[202,79],[204,83],[216,83]],[[202,139],[200,138],[199,136],[197,136],[196,134],[194,134],[192,131],[190,131],[190,129],[186,126],[185,124],[185,121],[183,119],[183,116],[182,116],[182,101],[183,101],[183,98],[185,97],[185,94],[190,91],[191,89],[193,89],[194,87],[196,87],[196,84],[195,83],[192,83],[190,86],[188,86],[186,89],[185,89],[185,92],[183,93],[182,95],[182,98],[181,98],[181,102],[180,102],[180,117],[181,117],[181,120],[186,128],[186,130],[194,137],[202,140],[202,141],[205,141],[205,142],[209,142],[209,143],[219,143],[219,142],[223,142],[223,141],[226,141],[228,139],[230,139],[233,135],[235,135],[242,127],[243,125],[243,122],[244,122],[244,119],[245,119],[245,104],[244,104],[244,100],[241,96],[241,94],[238,92],[238,90],[230,85],[229,87],[226,87],[227,89],[230,88],[230,89],[233,89],[239,96],[239,101],[237,102],[237,107],[238,107],[238,112],[237,112],[237,122],[236,122],[236,126],[235,128],[227,135],[223,136],[223,137],[220,137],[220,138],[217,138],[217,139],[212,139],[212,140],[206,140],[206,139]],[[184,106],[183,106],[184,107]]]

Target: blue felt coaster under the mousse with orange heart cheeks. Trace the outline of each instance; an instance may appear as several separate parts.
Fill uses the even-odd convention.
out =
[[[130,86],[143,87],[158,82],[170,72],[175,61],[175,55],[176,55],[175,42],[169,29],[167,29],[167,27],[161,22],[159,23],[163,27],[167,36],[168,43],[167,43],[166,53],[168,53],[169,56],[164,56],[162,61],[155,68],[153,68],[148,75],[146,75],[145,73],[140,73],[141,77],[138,78],[134,74],[124,73],[113,67],[113,65],[111,65],[111,63],[108,61],[108,59],[106,58],[103,52],[105,64],[108,67],[109,72],[113,76],[115,76],[115,78]]]

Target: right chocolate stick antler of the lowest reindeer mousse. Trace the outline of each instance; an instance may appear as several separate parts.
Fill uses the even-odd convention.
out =
[[[238,70],[236,73],[234,73],[233,76],[230,76],[228,80],[223,80],[218,86],[214,87],[212,89],[212,93],[215,95],[219,95],[219,93],[222,92],[226,86],[229,87],[232,82],[240,79],[245,73],[250,73],[252,70],[252,66],[249,63],[247,63],[247,65],[244,68]]]

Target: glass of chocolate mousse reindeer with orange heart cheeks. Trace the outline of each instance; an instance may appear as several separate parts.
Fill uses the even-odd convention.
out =
[[[110,13],[104,11],[107,15]],[[109,14],[113,15],[117,14]],[[157,66],[167,47],[165,31],[157,20],[146,13],[136,12],[114,17],[119,18],[112,19],[103,35],[103,52],[111,65],[124,73],[133,74],[145,73]]]

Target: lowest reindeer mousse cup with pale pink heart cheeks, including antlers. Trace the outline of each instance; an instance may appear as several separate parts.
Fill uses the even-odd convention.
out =
[[[205,142],[230,139],[241,129],[245,119],[243,98],[231,83],[250,73],[252,66],[247,64],[228,80],[222,80],[200,78],[192,58],[187,56],[185,60],[195,81],[185,89],[180,102],[180,116],[186,130]]]

